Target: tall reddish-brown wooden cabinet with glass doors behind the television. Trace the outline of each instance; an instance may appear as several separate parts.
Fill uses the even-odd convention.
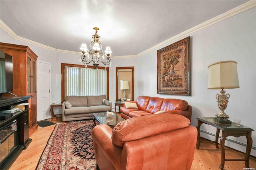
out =
[[[29,136],[37,129],[36,123],[36,60],[38,56],[24,45],[0,43],[0,50],[12,56],[13,62],[13,94],[31,95],[28,100]]]

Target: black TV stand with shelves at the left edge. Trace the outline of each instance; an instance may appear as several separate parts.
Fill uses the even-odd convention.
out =
[[[30,144],[30,142],[32,141],[32,139],[28,137],[28,128],[29,128],[28,127],[28,111],[30,110],[29,105],[25,105],[24,109],[12,113],[10,117],[9,116],[5,117],[6,113],[3,113],[2,111],[5,110],[6,106],[22,105],[22,103],[28,103],[28,100],[30,99],[30,97],[31,95],[1,97],[1,100],[0,100],[0,107],[1,107],[0,108],[0,130],[1,130],[0,150],[1,150],[1,154],[4,153],[3,155],[1,155],[1,159],[0,159],[1,170],[8,170],[12,165],[12,163],[16,160],[16,158],[22,152],[22,150],[26,149]],[[6,127],[9,127],[9,125],[11,125],[12,127],[12,123],[16,124],[16,126],[13,126],[16,128],[15,130],[12,130],[13,133],[10,136],[7,133],[7,132],[10,132],[10,130]],[[5,133],[2,133],[2,132],[5,132]],[[4,136],[4,138],[2,138],[2,136]],[[11,146],[12,148],[10,148],[9,146]],[[6,150],[6,152],[2,152],[4,150]]]

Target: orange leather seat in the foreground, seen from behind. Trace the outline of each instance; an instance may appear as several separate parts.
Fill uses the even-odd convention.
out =
[[[92,130],[100,170],[190,170],[197,130],[176,114],[134,117]]]

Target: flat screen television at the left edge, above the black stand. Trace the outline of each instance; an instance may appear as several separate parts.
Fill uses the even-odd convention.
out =
[[[13,91],[12,56],[0,50],[0,93]]]

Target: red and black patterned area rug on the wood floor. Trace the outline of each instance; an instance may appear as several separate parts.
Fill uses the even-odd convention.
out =
[[[57,124],[36,170],[96,170],[92,120]]]

